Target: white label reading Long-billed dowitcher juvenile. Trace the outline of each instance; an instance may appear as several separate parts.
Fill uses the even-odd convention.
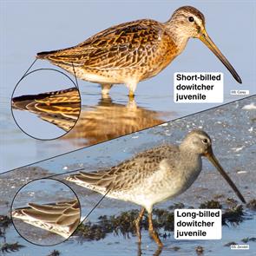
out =
[[[220,240],[220,209],[175,209],[175,240]]]

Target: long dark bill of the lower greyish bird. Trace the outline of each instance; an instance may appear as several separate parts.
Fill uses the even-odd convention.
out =
[[[224,169],[220,166],[219,161],[216,159],[215,155],[213,154],[213,150],[208,150],[208,153],[206,154],[207,159],[212,162],[213,166],[217,168],[217,170],[220,172],[220,174],[224,177],[224,179],[227,181],[230,187],[233,188],[233,191],[237,196],[240,198],[240,200],[243,203],[246,203],[246,200],[244,199],[243,195],[240,194],[239,189],[234,185],[233,181],[230,179],[230,177],[226,174]]]

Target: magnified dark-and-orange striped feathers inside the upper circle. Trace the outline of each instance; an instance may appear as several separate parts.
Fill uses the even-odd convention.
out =
[[[13,97],[11,106],[13,109],[34,113],[43,121],[69,132],[80,115],[81,98],[78,89],[70,88]]]

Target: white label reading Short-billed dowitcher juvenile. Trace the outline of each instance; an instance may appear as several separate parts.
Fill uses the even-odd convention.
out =
[[[222,103],[223,73],[174,73],[175,103]]]

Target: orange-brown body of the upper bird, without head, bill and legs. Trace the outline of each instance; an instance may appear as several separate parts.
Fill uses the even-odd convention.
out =
[[[103,30],[75,47],[38,53],[37,58],[71,73],[75,68],[75,75],[91,82],[102,82],[103,77],[106,82],[125,83],[130,76],[141,81],[156,75],[176,52],[164,24],[143,19]],[[115,81],[109,78],[113,75]]]

